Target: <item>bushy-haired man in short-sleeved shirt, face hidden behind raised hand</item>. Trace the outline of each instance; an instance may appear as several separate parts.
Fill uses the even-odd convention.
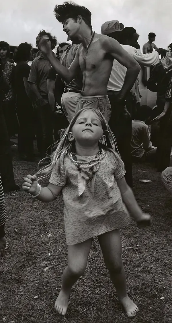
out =
[[[40,37],[48,36],[51,41],[51,49],[57,45],[57,40],[45,30],[41,31],[37,36],[37,47]],[[39,49],[39,48],[38,48]],[[55,55],[55,54],[54,54]],[[47,77],[51,68],[50,62],[44,58],[44,55],[36,57],[31,65],[28,82],[31,84],[31,90],[34,95],[34,105],[37,109],[38,122],[40,132],[42,132],[42,145],[38,145],[38,149],[45,156],[47,149],[53,144],[53,127],[52,127],[52,111],[48,102]],[[38,139],[38,138],[37,138]],[[40,141],[41,137],[38,139]],[[51,154],[49,149],[48,153]]]

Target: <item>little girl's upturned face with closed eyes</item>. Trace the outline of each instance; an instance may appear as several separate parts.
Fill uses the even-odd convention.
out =
[[[98,144],[103,135],[101,121],[91,109],[83,110],[75,121],[72,134],[81,145]]]

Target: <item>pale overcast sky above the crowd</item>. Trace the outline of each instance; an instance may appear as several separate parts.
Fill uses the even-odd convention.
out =
[[[105,21],[119,20],[124,27],[134,27],[139,33],[139,44],[148,41],[149,32],[156,34],[157,47],[166,48],[172,42],[172,0],[75,0],[92,12],[92,26],[97,33]],[[66,41],[63,26],[56,20],[53,8],[63,1],[55,0],[1,0],[0,40],[18,46],[27,41],[35,46],[36,36],[45,29]]]

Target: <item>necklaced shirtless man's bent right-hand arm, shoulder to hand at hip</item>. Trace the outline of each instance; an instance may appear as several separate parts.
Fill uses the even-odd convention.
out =
[[[140,65],[127,53],[125,49],[113,38],[106,37],[103,41],[106,51],[115,58],[121,65],[127,68],[124,84],[120,90],[120,99],[125,99],[126,94],[131,91],[138,74]]]

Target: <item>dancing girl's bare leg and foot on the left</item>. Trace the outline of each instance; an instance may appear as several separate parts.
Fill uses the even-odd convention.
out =
[[[64,269],[61,291],[54,306],[61,315],[66,314],[72,286],[85,272],[91,245],[92,238],[77,245],[68,245],[68,265]]]

